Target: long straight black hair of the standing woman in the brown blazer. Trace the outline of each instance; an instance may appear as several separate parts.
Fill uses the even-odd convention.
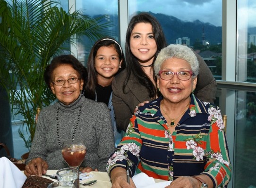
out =
[[[151,66],[152,69],[154,69],[154,61],[158,55],[158,53],[161,51],[163,47],[166,47],[166,40],[162,31],[162,27],[157,21],[157,19],[148,14],[148,13],[140,13],[136,16],[133,16],[129,25],[128,29],[126,32],[126,43],[125,43],[125,55],[126,55],[126,62],[127,62],[127,69],[128,69],[128,74],[125,79],[125,83],[123,85],[123,92],[125,92],[125,87],[127,86],[128,80],[130,78],[131,72],[134,73],[134,76],[137,78],[139,83],[141,83],[143,86],[147,88],[148,94],[150,98],[155,98],[157,94],[156,87],[154,86],[154,83],[150,80],[150,78],[145,74],[143,69],[141,68],[137,58],[132,54],[130,50],[130,37],[131,37],[131,32],[134,29],[135,25],[138,23],[149,23],[152,25],[152,30],[154,34],[154,39],[157,45],[157,50],[154,56],[153,64]],[[154,72],[154,70],[153,70]],[[156,77],[154,77],[154,81],[156,83]]]

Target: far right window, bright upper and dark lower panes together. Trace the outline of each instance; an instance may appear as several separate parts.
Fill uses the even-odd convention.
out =
[[[237,0],[236,83],[252,89],[236,91],[233,187],[256,187],[256,1]],[[240,83],[241,82],[241,83]],[[248,83],[247,83],[248,82]]]

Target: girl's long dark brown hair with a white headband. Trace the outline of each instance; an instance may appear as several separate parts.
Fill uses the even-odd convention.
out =
[[[115,39],[107,37],[107,38],[99,39],[98,41],[96,41],[94,43],[94,46],[91,49],[88,62],[87,62],[88,81],[85,84],[85,91],[84,91],[85,97],[92,100],[95,100],[95,88],[98,83],[98,79],[97,79],[98,73],[95,70],[95,56],[100,47],[114,47],[114,49],[119,55],[119,60],[120,61],[122,60],[121,68],[119,68],[119,71],[115,74],[115,76],[120,71],[126,68],[126,62],[125,62],[123,50]]]

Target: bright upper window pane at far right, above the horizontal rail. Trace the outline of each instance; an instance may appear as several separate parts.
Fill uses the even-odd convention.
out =
[[[256,83],[256,1],[238,0],[237,79]]]

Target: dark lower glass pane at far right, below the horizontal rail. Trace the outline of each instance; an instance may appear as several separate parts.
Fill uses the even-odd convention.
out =
[[[234,188],[256,187],[256,93],[237,93]]]

